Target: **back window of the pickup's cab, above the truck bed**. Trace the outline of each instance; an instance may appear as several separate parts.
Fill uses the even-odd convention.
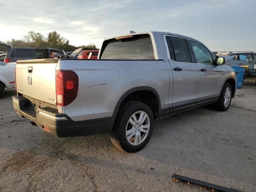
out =
[[[128,38],[105,41],[100,59],[155,59],[150,35],[130,35]]]

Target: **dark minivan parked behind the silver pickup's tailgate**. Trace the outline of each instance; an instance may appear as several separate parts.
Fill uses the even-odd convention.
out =
[[[6,54],[4,62],[17,62],[26,59],[64,58],[62,51],[52,48],[12,48]]]

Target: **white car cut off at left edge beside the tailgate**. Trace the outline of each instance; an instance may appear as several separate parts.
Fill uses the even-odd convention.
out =
[[[0,62],[0,97],[4,95],[5,88],[15,88],[16,63]]]

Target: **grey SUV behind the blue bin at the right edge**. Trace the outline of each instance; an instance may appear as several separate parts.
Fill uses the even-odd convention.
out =
[[[220,53],[217,54],[217,56],[221,55],[228,55],[232,56],[233,59],[227,62],[229,66],[244,66],[245,68],[248,68],[248,61],[251,59],[256,59],[256,53],[255,52],[226,52],[226,53]]]

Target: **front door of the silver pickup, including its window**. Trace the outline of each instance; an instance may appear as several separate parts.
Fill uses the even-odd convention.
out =
[[[216,58],[201,43],[188,40],[194,54],[195,63],[200,69],[200,91],[198,103],[217,99],[222,85],[222,68],[216,65]]]

